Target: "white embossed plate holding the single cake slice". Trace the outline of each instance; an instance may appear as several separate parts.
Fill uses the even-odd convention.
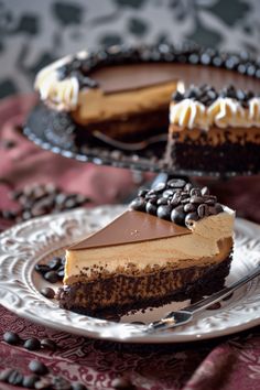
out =
[[[74,240],[90,234],[123,212],[123,206],[77,209],[32,219],[0,235],[0,303],[15,314],[59,331],[131,343],[177,343],[231,334],[260,324],[260,278],[240,288],[221,307],[195,315],[188,325],[149,334],[145,325],[187,302],[123,316],[120,323],[93,318],[58,307],[40,290],[51,285],[35,271],[37,262],[62,254]],[[260,261],[260,227],[236,220],[235,256],[227,284],[240,279]],[[53,286],[53,285],[51,285]],[[57,286],[56,286],[57,288]]]

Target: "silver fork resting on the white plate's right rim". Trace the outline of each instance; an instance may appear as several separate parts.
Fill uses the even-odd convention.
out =
[[[165,331],[180,325],[187,324],[189,321],[193,319],[193,316],[195,313],[198,313],[208,306],[213,305],[214,303],[217,303],[231,294],[235,290],[240,288],[241,285],[246,284],[253,278],[258,277],[260,274],[260,264],[257,267],[257,269],[252,270],[249,274],[246,277],[241,278],[237,282],[230,284],[228,288],[225,288],[215,294],[197,302],[194,303],[189,306],[186,306],[180,311],[171,312],[167,315],[165,315],[163,318],[160,321],[155,321],[153,323],[150,323],[148,325],[148,332],[154,332],[154,331]]]

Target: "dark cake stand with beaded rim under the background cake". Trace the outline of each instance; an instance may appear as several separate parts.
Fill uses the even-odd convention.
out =
[[[57,113],[40,104],[30,113],[24,126],[24,134],[45,150],[62,154],[65,158],[97,165],[111,165],[140,172],[165,173],[171,176],[228,178],[246,176],[257,172],[216,172],[201,170],[180,170],[169,166],[164,161],[166,140],[150,143],[140,150],[122,150],[89,138],[84,143],[80,140],[80,129],[75,132],[76,124],[68,115]],[[83,132],[82,132],[83,133]],[[84,132],[86,134],[86,132]],[[130,142],[131,145],[131,142]],[[130,148],[131,149],[131,148]]]

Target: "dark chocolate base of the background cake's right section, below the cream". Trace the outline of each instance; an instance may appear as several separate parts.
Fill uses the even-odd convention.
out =
[[[260,144],[226,141],[218,145],[199,144],[197,140],[169,141],[165,164],[175,170],[254,174],[260,170]]]

